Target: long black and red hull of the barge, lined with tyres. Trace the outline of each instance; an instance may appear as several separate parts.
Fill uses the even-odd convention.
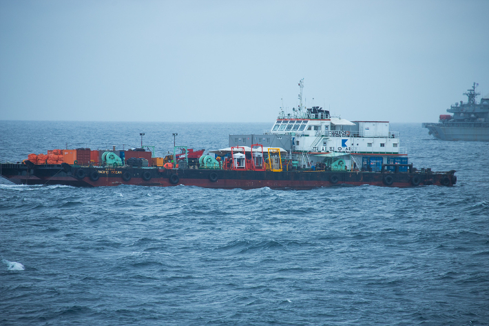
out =
[[[101,169],[96,167],[70,167],[60,170],[59,165],[34,167],[2,165],[2,176],[13,183],[28,185],[72,185],[76,187],[107,187],[116,185],[144,185],[171,187],[193,185],[221,189],[312,189],[335,185],[377,185],[380,187],[413,187],[416,185],[454,185],[455,171],[450,172],[270,172],[230,170],[165,170],[157,168]],[[126,180],[124,177],[127,176]]]

